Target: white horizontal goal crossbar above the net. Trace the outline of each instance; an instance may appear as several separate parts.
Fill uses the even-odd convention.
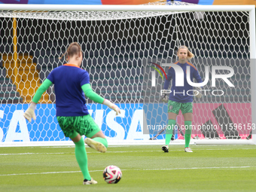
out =
[[[0,5],[8,11],[253,11],[254,5]]]

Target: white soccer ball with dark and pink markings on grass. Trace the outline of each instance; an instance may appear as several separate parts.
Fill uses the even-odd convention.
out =
[[[103,178],[109,184],[118,183],[122,178],[122,172],[117,166],[107,166],[103,171]]]

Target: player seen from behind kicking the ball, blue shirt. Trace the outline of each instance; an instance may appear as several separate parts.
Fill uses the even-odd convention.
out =
[[[90,177],[87,166],[87,153],[84,142],[97,151],[105,152],[108,142],[99,126],[90,116],[84,95],[94,102],[107,105],[109,108],[120,114],[120,108],[107,99],[103,99],[90,87],[90,77],[87,71],[81,69],[83,53],[77,42],[69,45],[66,53],[69,63],[53,69],[47,79],[41,84],[32,99],[29,108],[25,111],[24,117],[29,122],[35,120],[35,108],[41,95],[54,84],[56,94],[56,117],[64,135],[75,143],[75,157],[81,172],[84,175],[84,184],[97,184],[97,181]],[[61,59],[62,57],[60,57]],[[84,139],[81,136],[87,136]]]

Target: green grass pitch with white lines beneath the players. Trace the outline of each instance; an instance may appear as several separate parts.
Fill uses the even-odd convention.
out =
[[[91,176],[83,185],[75,147],[0,148],[0,191],[256,191],[255,145],[160,145],[87,149]],[[119,166],[123,178],[107,184],[106,166]]]

